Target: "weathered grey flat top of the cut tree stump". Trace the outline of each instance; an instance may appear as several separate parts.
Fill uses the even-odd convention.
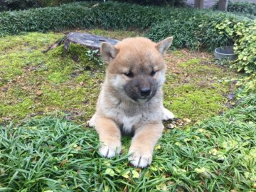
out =
[[[95,36],[90,33],[68,33],[64,41],[64,48],[68,51],[70,43],[80,44],[82,46],[87,46],[91,49],[100,49],[101,43],[107,42],[111,45],[117,44],[119,41],[117,39],[107,38],[104,36]]]

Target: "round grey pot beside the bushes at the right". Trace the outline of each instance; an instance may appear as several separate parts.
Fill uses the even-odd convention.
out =
[[[215,48],[214,50],[215,59],[227,58],[228,60],[235,60],[237,56],[234,53],[234,46],[224,46]]]

